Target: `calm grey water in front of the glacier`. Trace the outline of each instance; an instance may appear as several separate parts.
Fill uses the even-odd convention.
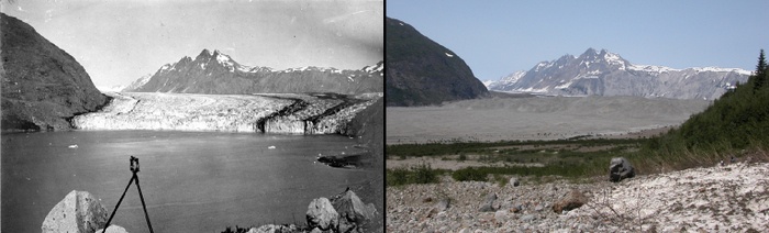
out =
[[[375,176],[376,171],[313,163],[319,154],[356,153],[355,144],[338,135],[3,134],[2,232],[38,232],[48,211],[71,190],[91,192],[112,212],[132,176],[130,156],[140,158],[140,185],[155,232],[303,223],[312,199],[339,193]],[[135,185],[112,223],[129,232],[147,231]]]

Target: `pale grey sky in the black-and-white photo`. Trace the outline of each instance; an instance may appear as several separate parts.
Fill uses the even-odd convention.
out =
[[[16,16],[97,86],[127,85],[203,48],[249,66],[360,69],[383,59],[383,2],[15,0]]]

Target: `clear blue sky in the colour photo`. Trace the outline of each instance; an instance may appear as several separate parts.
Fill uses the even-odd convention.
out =
[[[388,0],[386,14],[448,47],[481,80],[589,47],[633,64],[754,70],[769,1]]]

